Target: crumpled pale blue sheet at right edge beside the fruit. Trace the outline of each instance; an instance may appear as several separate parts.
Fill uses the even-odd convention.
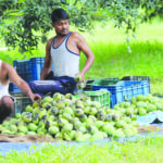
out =
[[[139,125],[152,124],[154,122],[163,123],[163,112],[155,111],[146,116],[137,116],[137,122]]]

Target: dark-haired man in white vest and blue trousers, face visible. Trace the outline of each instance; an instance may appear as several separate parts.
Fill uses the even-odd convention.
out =
[[[46,82],[32,82],[30,88],[34,92],[42,96],[49,91],[52,93],[73,93],[76,87],[75,75],[79,74],[82,80],[85,82],[85,73],[93,63],[95,57],[83,36],[78,33],[70,32],[66,11],[55,9],[52,12],[51,20],[57,35],[47,42],[46,61],[40,77],[41,80],[51,79],[51,85],[49,85],[49,82],[47,82],[47,85]],[[87,60],[79,72],[80,52],[86,55]],[[50,72],[51,64],[53,74]]]

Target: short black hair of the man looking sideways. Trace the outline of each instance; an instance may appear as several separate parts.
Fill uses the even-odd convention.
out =
[[[52,20],[53,23],[58,22],[60,20],[68,20],[68,15],[67,15],[67,13],[66,13],[65,10],[63,10],[63,9],[60,8],[60,9],[55,9],[52,12],[51,20]]]

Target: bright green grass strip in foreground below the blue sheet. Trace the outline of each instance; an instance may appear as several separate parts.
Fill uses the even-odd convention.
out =
[[[104,145],[34,147],[36,152],[12,152],[1,163],[161,163],[163,137]]]

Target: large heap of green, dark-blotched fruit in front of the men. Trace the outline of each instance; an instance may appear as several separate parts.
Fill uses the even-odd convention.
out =
[[[60,140],[87,141],[130,137],[137,122],[108,106],[101,108],[89,97],[54,93],[27,105],[25,112],[0,125],[2,135],[38,135]]]

